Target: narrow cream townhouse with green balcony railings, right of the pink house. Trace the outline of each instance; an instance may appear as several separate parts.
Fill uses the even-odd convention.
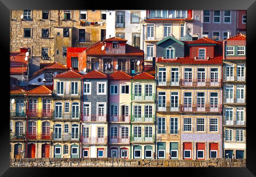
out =
[[[155,77],[143,72],[132,77],[131,86],[131,159],[153,159]]]

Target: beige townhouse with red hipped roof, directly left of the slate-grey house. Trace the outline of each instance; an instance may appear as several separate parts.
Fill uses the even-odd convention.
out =
[[[82,75],[71,69],[53,78],[51,157],[79,157]]]

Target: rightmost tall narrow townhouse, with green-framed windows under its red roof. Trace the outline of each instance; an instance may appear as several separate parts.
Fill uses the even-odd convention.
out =
[[[246,158],[246,36],[223,41],[223,157]],[[227,155],[228,154],[228,155]]]

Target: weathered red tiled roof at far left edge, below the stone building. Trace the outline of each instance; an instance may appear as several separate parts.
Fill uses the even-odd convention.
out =
[[[27,71],[26,53],[10,52],[10,74],[23,74]]]

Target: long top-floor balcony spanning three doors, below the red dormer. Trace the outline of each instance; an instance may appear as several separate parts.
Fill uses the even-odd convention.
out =
[[[180,79],[180,86],[181,87],[221,87],[222,82],[221,79],[218,80],[202,80],[202,79],[195,79],[195,80],[185,80]]]

